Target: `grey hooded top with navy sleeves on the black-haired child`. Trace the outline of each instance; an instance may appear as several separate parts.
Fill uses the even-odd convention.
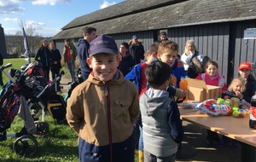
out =
[[[166,90],[148,89],[140,98],[144,149],[158,157],[177,152],[183,125],[177,104]]]

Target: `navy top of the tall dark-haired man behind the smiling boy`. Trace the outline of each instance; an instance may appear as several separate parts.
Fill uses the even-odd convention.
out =
[[[88,50],[90,49],[90,43],[84,38],[79,39],[79,61],[82,74],[89,76],[91,68],[87,64],[87,58],[89,58]]]

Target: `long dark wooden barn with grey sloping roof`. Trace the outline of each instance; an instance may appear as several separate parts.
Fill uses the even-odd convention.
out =
[[[219,73],[228,83],[237,77],[240,62],[256,61],[254,0],[126,0],[63,26],[52,38],[57,48],[62,51],[65,38],[77,44],[84,26],[96,27],[97,34],[112,36],[118,45],[136,34],[145,50],[159,39],[161,31],[179,44],[180,54],[185,42],[194,39],[203,55],[218,61]]]

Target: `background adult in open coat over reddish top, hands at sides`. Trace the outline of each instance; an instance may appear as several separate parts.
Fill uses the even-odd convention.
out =
[[[77,49],[74,47],[73,43],[70,43],[70,39],[65,39],[65,46],[63,49],[64,62],[67,63],[67,68],[70,72],[72,82],[75,81],[75,61],[78,56]]]

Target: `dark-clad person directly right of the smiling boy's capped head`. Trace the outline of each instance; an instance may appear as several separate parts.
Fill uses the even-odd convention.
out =
[[[129,54],[129,44],[128,43],[121,43],[119,47],[119,55],[120,55],[120,62],[119,62],[119,70],[123,72],[124,76],[131,71],[131,67],[134,66],[134,61]]]

